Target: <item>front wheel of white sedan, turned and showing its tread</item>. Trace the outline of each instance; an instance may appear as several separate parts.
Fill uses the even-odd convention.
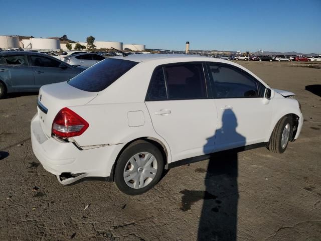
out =
[[[283,153],[292,137],[291,117],[284,116],[276,124],[270,137],[268,149],[271,152]],[[283,141],[282,141],[283,139]]]

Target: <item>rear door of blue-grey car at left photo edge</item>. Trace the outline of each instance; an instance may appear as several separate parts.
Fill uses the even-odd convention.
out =
[[[0,79],[13,92],[36,90],[33,70],[25,54],[1,56]]]

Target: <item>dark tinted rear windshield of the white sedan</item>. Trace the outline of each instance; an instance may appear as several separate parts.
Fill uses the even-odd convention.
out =
[[[136,64],[128,60],[105,59],[69,80],[68,84],[89,92],[102,91]]]

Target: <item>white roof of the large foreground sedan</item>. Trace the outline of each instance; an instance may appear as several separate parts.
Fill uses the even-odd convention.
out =
[[[215,59],[218,62],[221,62],[220,59],[217,58],[211,58],[207,56],[201,56],[201,55],[190,55],[190,54],[130,54],[128,56],[115,56],[111,57],[112,59],[123,59],[123,60],[129,60],[133,62],[147,62],[157,59],[178,59],[179,62],[183,61],[204,61],[204,59],[208,59],[209,61],[213,61]],[[225,61],[224,61],[225,62]]]

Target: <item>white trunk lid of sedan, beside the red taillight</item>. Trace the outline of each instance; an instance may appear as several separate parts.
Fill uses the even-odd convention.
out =
[[[52,123],[63,107],[85,105],[97,96],[98,92],[77,89],[67,82],[44,85],[39,90],[37,109],[43,132],[50,137]]]

